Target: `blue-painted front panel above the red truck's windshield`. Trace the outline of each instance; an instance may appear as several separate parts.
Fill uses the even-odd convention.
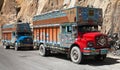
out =
[[[77,22],[99,25],[102,24],[102,9],[80,7],[77,10]]]

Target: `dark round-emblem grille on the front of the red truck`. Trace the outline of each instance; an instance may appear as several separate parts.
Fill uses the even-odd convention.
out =
[[[104,35],[100,35],[96,37],[96,46],[97,47],[105,47],[107,45],[107,37]]]

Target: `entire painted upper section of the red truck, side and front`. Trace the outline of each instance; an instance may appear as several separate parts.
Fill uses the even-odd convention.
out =
[[[102,25],[102,9],[89,7],[73,7],[52,11],[33,17],[33,26],[40,24],[62,24],[78,22]]]

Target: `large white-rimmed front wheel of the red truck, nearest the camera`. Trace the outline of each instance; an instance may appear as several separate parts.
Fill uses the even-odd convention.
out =
[[[72,62],[79,64],[82,62],[83,55],[80,51],[80,49],[77,46],[74,46],[70,51],[70,58]]]

